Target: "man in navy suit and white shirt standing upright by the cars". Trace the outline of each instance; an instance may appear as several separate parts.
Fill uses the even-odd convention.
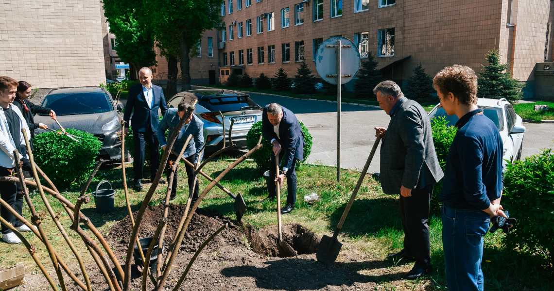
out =
[[[133,168],[135,170],[135,181],[133,187],[135,190],[142,190],[142,169],[144,166],[144,150],[146,141],[150,143],[150,178],[153,180],[156,171],[160,166],[160,152],[158,147],[158,138],[156,130],[160,117],[158,110],[161,109],[162,115],[167,111],[166,99],[163,96],[162,87],[152,84],[152,71],[147,67],[139,70],[139,81],[141,85],[132,86],[129,89],[129,97],[125,105],[125,133],[129,132],[129,119],[133,113],[133,141],[135,143],[135,153],[133,155]]]

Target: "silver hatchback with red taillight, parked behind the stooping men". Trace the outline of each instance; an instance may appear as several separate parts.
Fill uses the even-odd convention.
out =
[[[198,100],[194,115],[204,122],[204,142],[206,154],[216,152],[223,147],[223,119],[225,123],[225,141],[228,145],[229,127],[234,120],[231,137],[237,149],[246,148],[246,134],[257,121],[261,120],[263,108],[246,93],[222,90],[199,89],[177,93],[167,102],[169,108],[177,108],[181,102]]]

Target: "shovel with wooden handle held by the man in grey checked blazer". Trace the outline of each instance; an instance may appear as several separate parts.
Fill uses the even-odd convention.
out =
[[[370,156],[367,158],[366,165],[363,166],[362,174],[360,175],[360,178],[358,178],[358,183],[356,183],[356,187],[352,192],[352,196],[350,196],[350,200],[346,205],[345,211],[342,212],[342,217],[341,220],[338,222],[335,233],[333,233],[332,237],[324,235],[321,238],[319,246],[317,247],[317,261],[324,264],[332,264],[336,261],[338,253],[341,251],[342,247],[342,243],[338,242],[337,240],[338,233],[341,231],[342,224],[344,224],[346,220],[346,216],[348,215],[348,211],[350,211],[350,207],[352,207],[354,199],[356,199],[356,194],[358,194],[358,190],[360,190],[363,178],[365,178],[367,173],[367,168],[370,167],[371,160],[373,159],[373,155],[375,154],[375,150],[377,149],[377,145],[379,145],[380,141],[381,137],[377,137],[375,143],[373,144],[373,148],[371,149]]]

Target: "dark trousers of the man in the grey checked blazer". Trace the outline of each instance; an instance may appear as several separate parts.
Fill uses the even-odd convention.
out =
[[[416,258],[416,264],[427,267],[431,263],[429,250],[429,203],[433,195],[430,184],[422,189],[413,189],[412,196],[400,195],[400,217],[404,230],[404,249]]]

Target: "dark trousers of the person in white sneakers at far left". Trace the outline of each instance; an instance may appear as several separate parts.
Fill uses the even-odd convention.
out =
[[[11,168],[12,170],[14,168]],[[0,176],[10,176],[12,172],[8,168],[0,166]],[[2,194],[2,200],[6,201],[9,206],[12,206],[18,214],[22,214],[23,210],[23,194],[17,189],[17,183],[0,182],[0,194]],[[4,206],[0,206],[0,216],[3,219],[10,222],[14,227],[23,225],[23,222],[16,219],[16,216],[9,212]],[[11,230],[2,225],[2,233],[9,233]]]

